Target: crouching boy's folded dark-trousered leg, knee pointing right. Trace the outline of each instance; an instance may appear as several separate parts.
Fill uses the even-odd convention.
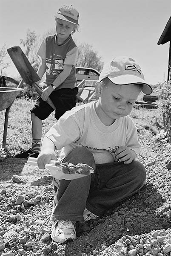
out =
[[[144,186],[145,167],[133,161],[96,165],[95,182],[91,184],[86,208],[98,216],[123,201]]]

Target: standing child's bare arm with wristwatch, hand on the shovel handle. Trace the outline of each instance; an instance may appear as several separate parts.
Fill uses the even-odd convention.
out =
[[[72,65],[64,65],[64,69],[63,71],[59,74],[59,76],[57,76],[57,78],[53,81],[53,84],[58,87],[60,86],[60,84],[63,83],[63,81],[66,80],[66,78],[69,76],[69,74],[71,73],[71,69],[72,69]],[[42,94],[41,94],[41,98],[46,101],[48,96],[54,91],[54,89],[51,86],[46,87]]]

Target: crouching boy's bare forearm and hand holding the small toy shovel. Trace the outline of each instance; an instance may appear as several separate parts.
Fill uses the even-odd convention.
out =
[[[40,169],[44,169],[45,165],[48,164],[50,160],[57,160],[54,152],[55,149],[54,143],[45,136],[42,141],[41,152],[37,157],[37,164]]]

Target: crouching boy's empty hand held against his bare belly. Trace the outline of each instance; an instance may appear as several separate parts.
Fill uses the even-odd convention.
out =
[[[119,162],[123,163],[131,163],[137,157],[136,153],[127,146],[118,148],[115,152],[115,156]]]

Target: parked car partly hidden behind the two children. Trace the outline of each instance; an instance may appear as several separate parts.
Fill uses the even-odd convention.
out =
[[[77,83],[80,83],[83,79],[85,80],[98,80],[100,72],[94,68],[89,67],[76,67],[76,78]]]

